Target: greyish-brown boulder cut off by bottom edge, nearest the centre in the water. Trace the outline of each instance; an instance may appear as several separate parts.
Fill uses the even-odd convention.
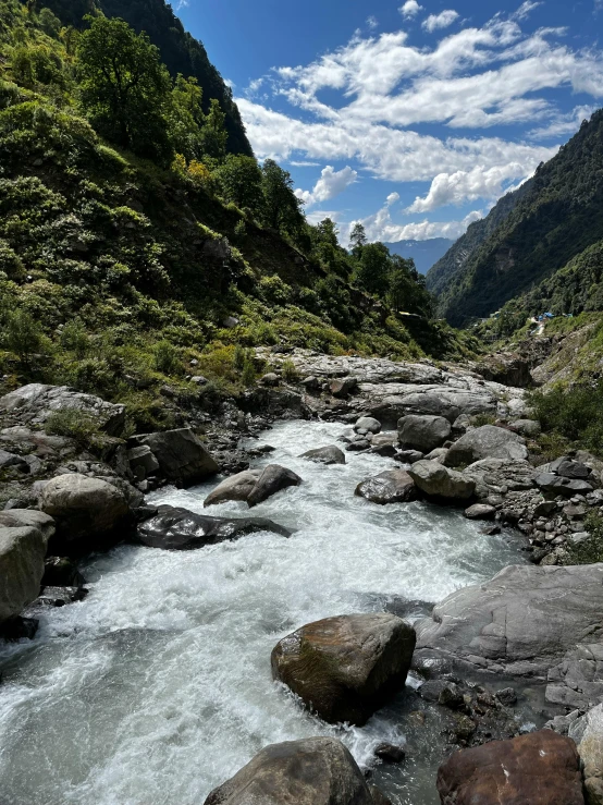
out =
[[[332,737],[288,741],[263,748],[205,805],[374,805],[348,749]]]

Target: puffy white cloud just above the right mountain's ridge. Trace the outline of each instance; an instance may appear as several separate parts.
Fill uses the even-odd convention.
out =
[[[503,194],[503,183],[517,179],[522,172],[522,164],[509,162],[489,169],[476,166],[470,171],[439,173],[431,183],[427,196],[416,198],[406,212],[429,212],[450,204],[476,202],[478,198],[499,198]]]

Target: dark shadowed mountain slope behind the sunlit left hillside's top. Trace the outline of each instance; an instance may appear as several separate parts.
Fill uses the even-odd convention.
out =
[[[100,9],[106,16],[119,16],[137,32],[145,31],[159,48],[161,60],[172,77],[179,73],[194,76],[204,90],[204,111],[211,98],[218,98],[226,114],[227,149],[231,154],[253,156],[251,146],[231,88],[208,59],[204,45],[188,34],[164,0],[40,0],[39,8],[50,8],[65,24],[82,27],[83,16]]]

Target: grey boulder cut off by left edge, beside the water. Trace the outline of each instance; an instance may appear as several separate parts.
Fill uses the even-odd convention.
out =
[[[0,525],[0,623],[16,618],[38,597],[46,545],[35,526]]]

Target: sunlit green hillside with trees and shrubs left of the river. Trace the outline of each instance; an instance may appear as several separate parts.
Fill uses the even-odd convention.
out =
[[[0,0],[0,375],[126,402],[151,428],[167,381],[198,395],[192,361],[211,404],[254,383],[253,346],[460,349],[411,263],[309,225],[290,174],[229,153],[220,99],[146,35],[64,22]]]

